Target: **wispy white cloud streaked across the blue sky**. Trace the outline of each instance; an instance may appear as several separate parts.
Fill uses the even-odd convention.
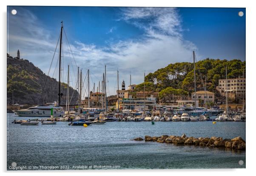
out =
[[[30,11],[21,10],[22,13],[9,18],[9,52],[16,55],[19,48],[23,58],[28,58],[47,73],[58,36],[40,25],[37,16]],[[189,61],[191,51],[196,49],[182,37],[182,21],[176,8],[121,8],[120,16],[120,20],[143,29],[144,34],[106,47],[79,40],[70,42],[77,65],[83,70],[90,69],[91,82],[97,85],[104,65],[107,65],[110,94],[114,94],[117,87],[117,69],[120,81],[125,80],[128,84],[131,72],[132,83],[138,84],[143,81],[144,71],[148,73],[169,63]],[[108,33],[114,30],[118,29],[112,27]],[[65,58],[71,55],[67,48],[64,48],[64,55],[67,55]]]

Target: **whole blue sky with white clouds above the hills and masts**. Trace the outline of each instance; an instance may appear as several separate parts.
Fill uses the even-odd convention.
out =
[[[16,15],[11,14],[12,9],[17,10]],[[193,50],[197,60],[245,60],[245,15],[239,16],[239,11],[245,14],[245,8],[8,6],[8,52],[15,56],[19,49],[22,58],[47,74],[63,20],[84,77],[90,69],[91,82],[98,85],[106,64],[108,94],[114,94],[117,69],[119,83],[125,80],[128,85],[130,73],[132,83],[138,84],[144,71],[147,74],[169,63],[192,61]],[[70,64],[74,84],[76,66],[63,40],[62,79],[66,81]],[[57,77],[54,67],[51,77]]]

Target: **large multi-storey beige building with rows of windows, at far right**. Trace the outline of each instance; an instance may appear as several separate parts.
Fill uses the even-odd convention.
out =
[[[229,98],[245,98],[245,78],[233,78],[228,79],[227,82],[225,79],[219,80],[219,86],[216,87],[216,90],[222,96],[226,96],[226,91],[228,91]]]

